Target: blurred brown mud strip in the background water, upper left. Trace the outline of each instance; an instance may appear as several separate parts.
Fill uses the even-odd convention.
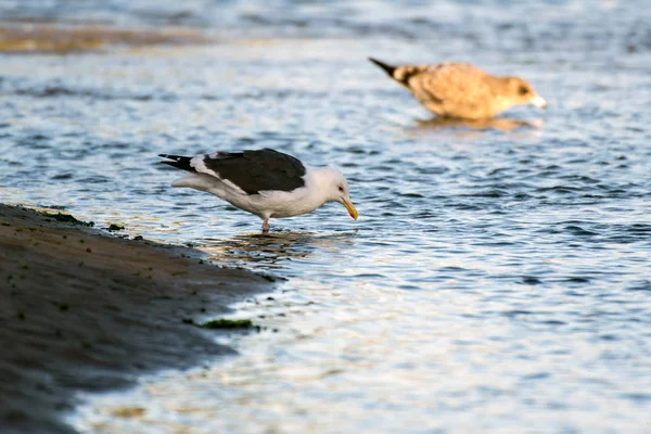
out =
[[[0,22],[0,53],[68,53],[97,51],[111,46],[179,46],[212,41],[197,30],[184,28],[120,29],[98,24]]]

